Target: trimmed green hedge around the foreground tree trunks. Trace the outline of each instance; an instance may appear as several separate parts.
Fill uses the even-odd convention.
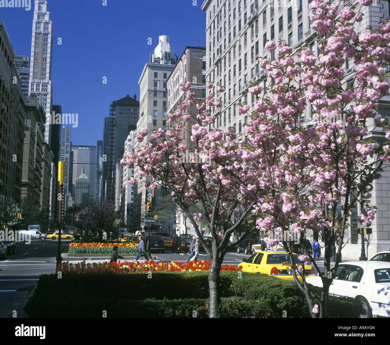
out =
[[[29,317],[208,317],[209,272],[41,275]],[[61,299],[56,296],[60,292]],[[222,317],[310,317],[294,281],[261,273],[221,272]],[[235,296],[227,298],[229,296]],[[241,299],[241,300],[239,300]],[[328,317],[358,317],[355,301],[330,297]]]

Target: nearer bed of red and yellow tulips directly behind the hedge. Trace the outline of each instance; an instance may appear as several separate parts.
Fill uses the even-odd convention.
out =
[[[85,261],[78,262],[76,264],[63,262],[56,269],[56,273],[62,272],[63,274],[85,274],[85,273],[148,273],[148,272],[190,272],[190,271],[209,271],[211,261],[190,261],[190,262],[99,262],[86,264]],[[233,265],[221,265],[221,271],[241,271],[240,267]]]

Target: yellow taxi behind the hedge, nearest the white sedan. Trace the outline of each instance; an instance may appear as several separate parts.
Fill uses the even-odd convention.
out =
[[[298,255],[293,254],[293,258],[298,265],[303,265],[298,259]],[[260,272],[285,280],[294,280],[290,266],[290,256],[286,251],[257,251],[248,259],[244,259],[244,262],[241,262],[238,266],[242,266],[243,272]],[[315,271],[312,266],[303,266],[305,276],[315,276]],[[302,281],[300,275],[298,274],[297,276]]]

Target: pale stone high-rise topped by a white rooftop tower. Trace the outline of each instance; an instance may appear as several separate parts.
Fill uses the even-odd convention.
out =
[[[141,73],[138,84],[140,85],[140,119],[137,123],[137,132],[143,128],[148,131],[167,126],[167,79],[177,62],[177,56],[170,45],[169,37],[166,35],[159,37],[158,46],[150,55],[150,62],[146,63]],[[151,139],[148,134],[144,138],[144,145]],[[135,168],[135,177],[138,179],[137,196],[135,199],[135,225],[140,224],[141,216],[146,214],[145,202],[147,195],[152,193],[149,187],[142,184],[144,178],[138,175],[138,167]],[[160,189],[153,193],[154,197],[164,194]]]

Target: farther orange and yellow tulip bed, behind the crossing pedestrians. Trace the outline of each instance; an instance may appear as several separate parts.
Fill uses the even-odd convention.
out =
[[[135,243],[77,243],[69,244],[68,254],[111,254],[113,246],[118,246],[118,253],[137,254],[139,248]]]

